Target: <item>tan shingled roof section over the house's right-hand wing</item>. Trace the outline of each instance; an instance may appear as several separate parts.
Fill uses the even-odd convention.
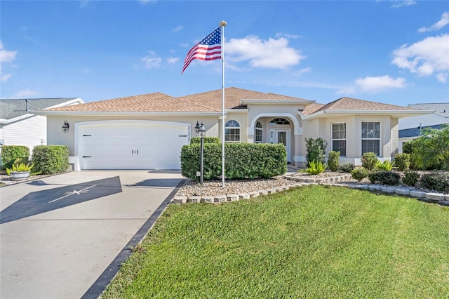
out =
[[[339,98],[326,105],[315,105],[317,109],[305,109],[302,112],[303,119],[311,119],[314,117],[325,117],[325,114],[391,114],[396,117],[401,114],[410,116],[409,114],[429,114],[431,111],[420,110],[410,107],[402,107],[397,105],[384,104],[382,102],[371,102],[368,100],[358,100],[354,98]]]

